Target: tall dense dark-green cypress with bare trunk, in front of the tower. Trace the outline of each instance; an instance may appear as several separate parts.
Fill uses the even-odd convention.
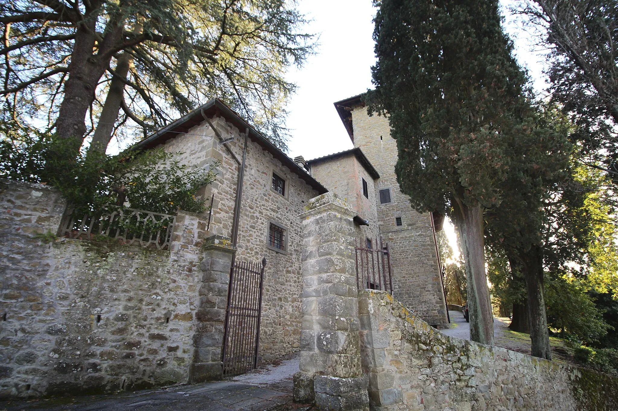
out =
[[[464,253],[470,337],[493,345],[484,212],[501,203],[531,112],[497,0],[375,0],[370,112],[389,117],[397,180],[418,211],[449,214]]]

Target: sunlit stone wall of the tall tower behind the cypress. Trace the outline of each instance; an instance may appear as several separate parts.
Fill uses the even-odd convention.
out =
[[[352,125],[354,146],[363,150],[380,175],[375,187],[378,224],[391,249],[394,295],[428,323],[447,323],[431,216],[412,210],[410,198],[399,190],[397,143],[391,138],[388,121],[370,117],[364,106],[357,106],[352,110]],[[380,204],[379,190],[387,188],[392,203]],[[396,226],[396,217],[402,218],[402,226]]]

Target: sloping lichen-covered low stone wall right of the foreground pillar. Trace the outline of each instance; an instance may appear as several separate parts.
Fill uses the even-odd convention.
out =
[[[372,410],[616,410],[618,380],[447,337],[386,292],[358,293]]]

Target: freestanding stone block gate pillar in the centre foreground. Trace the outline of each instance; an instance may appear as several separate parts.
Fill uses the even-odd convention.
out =
[[[300,371],[294,399],[320,410],[368,410],[362,373],[352,218],[334,193],[309,201],[303,220]]]

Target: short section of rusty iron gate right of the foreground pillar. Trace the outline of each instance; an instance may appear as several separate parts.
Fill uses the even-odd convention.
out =
[[[379,245],[380,248],[372,248],[368,239],[366,247],[355,247],[356,286],[359,290],[384,290],[392,295],[391,253],[388,243],[383,245],[382,239]]]

